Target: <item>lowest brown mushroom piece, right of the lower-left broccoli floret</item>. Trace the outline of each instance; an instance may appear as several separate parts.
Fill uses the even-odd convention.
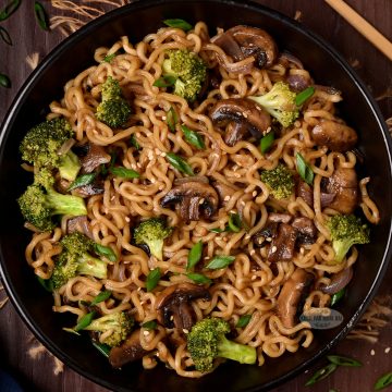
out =
[[[118,369],[127,363],[142,359],[148,353],[140,345],[140,329],[137,329],[120,346],[110,350],[109,363]]]

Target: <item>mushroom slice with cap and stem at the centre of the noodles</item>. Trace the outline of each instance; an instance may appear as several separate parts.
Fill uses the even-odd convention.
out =
[[[181,218],[185,221],[210,218],[218,208],[219,197],[216,189],[206,183],[189,180],[174,186],[162,198],[161,206],[180,205]]]

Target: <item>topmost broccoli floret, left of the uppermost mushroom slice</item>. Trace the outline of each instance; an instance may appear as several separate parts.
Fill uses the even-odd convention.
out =
[[[206,64],[195,52],[188,50],[169,50],[168,56],[163,60],[162,70],[163,76],[175,77],[173,94],[194,101],[207,77]]]

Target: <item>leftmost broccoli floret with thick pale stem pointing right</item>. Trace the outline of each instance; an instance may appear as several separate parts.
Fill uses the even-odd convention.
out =
[[[54,228],[53,216],[73,217],[87,215],[82,197],[63,195],[54,191],[54,179],[49,169],[41,169],[34,183],[17,199],[23,217],[38,230],[49,231]]]

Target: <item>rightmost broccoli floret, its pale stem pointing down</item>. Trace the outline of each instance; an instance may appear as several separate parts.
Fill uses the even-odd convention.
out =
[[[344,259],[353,245],[370,242],[370,229],[354,215],[335,215],[328,220],[327,226],[331,232],[336,262]]]

